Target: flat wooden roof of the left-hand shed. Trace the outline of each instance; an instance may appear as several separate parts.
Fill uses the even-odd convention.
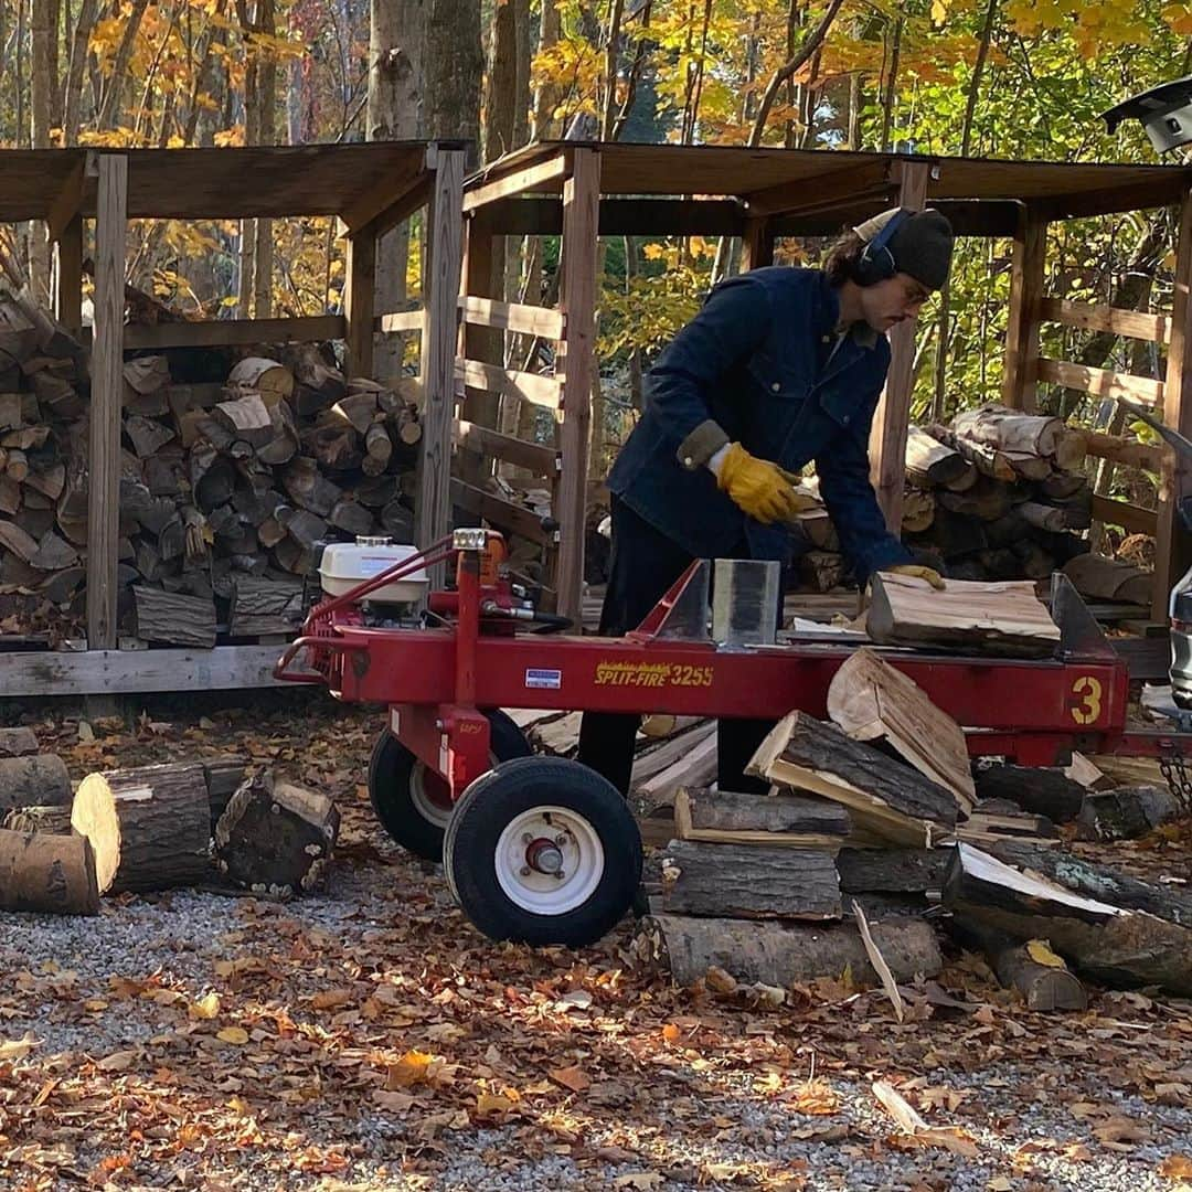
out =
[[[63,203],[94,216],[97,155],[122,153],[129,159],[130,218],[337,215],[352,216],[346,222],[359,226],[426,182],[428,148],[422,141],[379,141],[218,149],[4,149],[0,221],[46,218]]]

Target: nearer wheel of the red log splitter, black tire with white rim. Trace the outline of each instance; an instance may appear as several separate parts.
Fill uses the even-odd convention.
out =
[[[519,821],[533,824],[544,814],[538,808],[555,808],[546,812],[555,824],[565,819],[565,864],[573,868],[561,886],[547,881],[551,888],[542,892],[528,886],[542,881],[539,874],[520,870],[527,875],[523,898],[536,904],[530,908],[502,884],[498,864],[507,883],[517,879],[509,853],[502,859],[497,852],[502,834]],[[521,845],[507,840],[504,848]],[[641,834],[620,791],[595,770],[565,758],[520,758],[464,791],[447,826],[443,870],[464,913],[490,939],[581,948],[607,935],[633,906],[641,881]],[[558,912],[550,909],[555,898]]]

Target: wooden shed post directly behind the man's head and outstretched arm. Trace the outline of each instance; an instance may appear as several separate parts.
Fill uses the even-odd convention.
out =
[[[898,205],[921,211],[927,199],[932,166],[926,162],[898,162],[901,174]],[[899,323],[889,333],[890,368],[886,390],[877,403],[869,436],[870,478],[886,524],[895,536],[902,529],[902,485],[906,482],[906,435],[911,418],[911,390],[914,378],[914,327]]]

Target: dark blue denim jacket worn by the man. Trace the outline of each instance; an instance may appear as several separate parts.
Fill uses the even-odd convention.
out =
[[[815,460],[859,579],[907,563],[911,553],[887,530],[869,483],[869,428],[889,343],[865,324],[839,339],[838,317],[836,291],[818,269],[755,269],[718,286],[650,371],[645,414],[609,489],[693,555],[744,547],[752,558],[784,561],[787,528],[746,517],[706,466],[727,436],[790,471]]]

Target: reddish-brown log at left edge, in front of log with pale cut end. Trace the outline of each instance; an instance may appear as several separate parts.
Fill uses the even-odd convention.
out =
[[[85,836],[0,828],[0,907],[99,914],[91,840]]]

